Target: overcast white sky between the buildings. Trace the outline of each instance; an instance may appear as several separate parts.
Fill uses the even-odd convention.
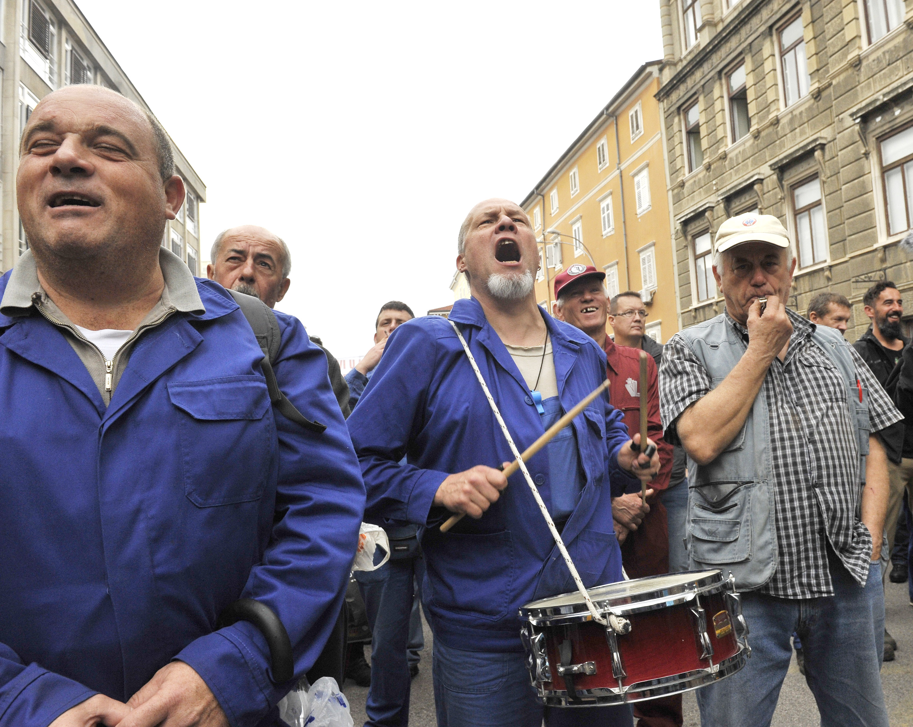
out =
[[[387,300],[453,302],[468,209],[519,202],[662,58],[658,0],[77,3],[205,182],[203,248],[283,237],[277,307],[339,358]]]

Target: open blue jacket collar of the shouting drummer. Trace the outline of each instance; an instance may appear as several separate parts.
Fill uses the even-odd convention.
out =
[[[559,395],[561,395],[564,390],[564,383],[567,381],[568,374],[571,373],[573,364],[577,360],[577,354],[580,352],[581,346],[587,345],[587,342],[589,342],[597,351],[599,350],[599,347],[592,338],[586,335],[586,333],[574,328],[569,323],[564,323],[552,318],[551,315],[541,307],[539,308],[539,311],[542,315],[542,320],[545,321],[545,325],[549,328],[549,335],[551,336],[551,355],[555,363],[555,378],[558,382]],[[454,303],[453,309],[450,311],[449,319],[455,323],[463,323],[477,328],[477,334],[471,336],[471,338],[476,338],[477,342],[488,350],[488,353],[492,355],[501,367],[517,380],[524,391],[529,390],[526,381],[524,381],[523,376],[519,373],[517,364],[514,363],[504,342],[502,342],[500,336],[498,336],[498,332],[496,332],[491,327],[490,323],[488,323],[488,319],[485,317],[485,311],[482,309],[482,305],[478,300],[475,298],[457,300],[456,303]],[[467,336],[467,342],[470,342],[469,338],[470,336]],[[575,403],[576,402],[571,402],[570,404],[572,406]],[[565,402],[562,399],[561,406],[567,407],[568,402]]]

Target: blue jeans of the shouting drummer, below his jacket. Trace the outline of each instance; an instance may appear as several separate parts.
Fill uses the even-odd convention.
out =
[[[543,707],[522,652],[464,651],[435,641],[437,727],[633,727],[631,708]]]

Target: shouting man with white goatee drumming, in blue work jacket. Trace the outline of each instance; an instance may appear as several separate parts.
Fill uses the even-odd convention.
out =
[[[536,305],[536,237],[518,205],[476,205],[458,253],[473,297],[456,301],[450,321],[522,451],[605,379],[605,354]],[[349,431],[369,514],[427,528],[422,593],[439,727],[540,727],[543,716],[550,725],[630,725],[626,706],[543,710],[536,700],[518,609],[574,584],[523,475],[507,487],[494,469],[513,455],[446,320],[407,321],[390,336]],[[528,463],[587,587],[622,578],[613,490],[659,466],[631,444],[621,412],[600,397]],[[454,512],[470,517],[440,532]]]

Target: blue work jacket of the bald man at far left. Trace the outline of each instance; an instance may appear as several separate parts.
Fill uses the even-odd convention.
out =
[[[278,723],[290,682],[255,627],[217,616],[270,606],[301,676],[339,615],[364,487],[326,358],[277,313],[278,384],[317,434],[270,406],[235,301],[195,285],[205,312],[144,332],[107,408],[55,325],[0,315],[2,727],[126,701],[172,659],[234,727]]]

